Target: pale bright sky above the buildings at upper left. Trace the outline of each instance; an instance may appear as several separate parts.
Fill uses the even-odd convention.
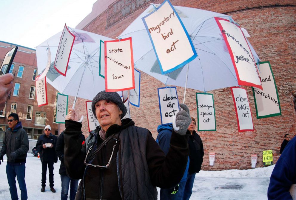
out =
[[[67,26],[75,28],[97,0],[2,0],[0,40],[36,49]]]

